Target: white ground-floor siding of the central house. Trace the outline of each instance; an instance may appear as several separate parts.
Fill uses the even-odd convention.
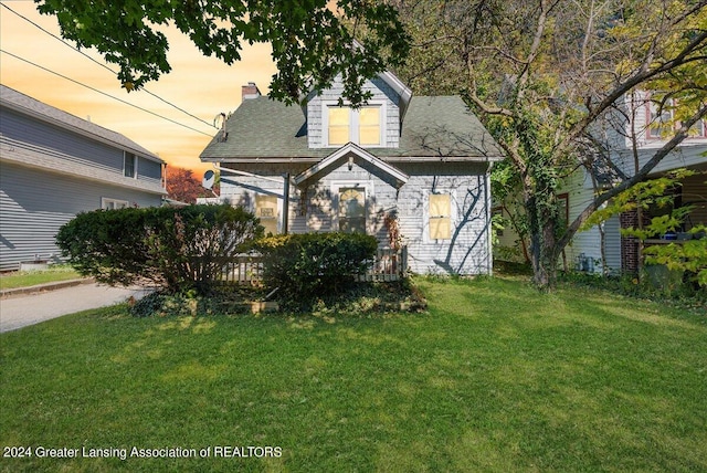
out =
[[[410,269],[418,273],[486,274],[490,271],[488,245],[489,191],[486,166],[481,164],[405,165],[410,175],[399,190],[377,172],[357,165],[335,169],[306,190],[291,187],[291,232],[337,230],[337,189],[362,186],[367,189],[368,233],[388,245],[383,225],[386,214],[395,210],[400,231],[409,249]],[[261,167],[250,172],[265,176],[274,170]],[[256,177],[222,175],[221,196],[233,204],[254,209],[253,192],[272,192],[282,198],[282,185]],[[453,201],[453,229],[450,240],[430,240],[426,204],[430,191],[447,192]],[[306,192],[302,198],[302,192]],[[279,216],[282,222],[282,214]]]

